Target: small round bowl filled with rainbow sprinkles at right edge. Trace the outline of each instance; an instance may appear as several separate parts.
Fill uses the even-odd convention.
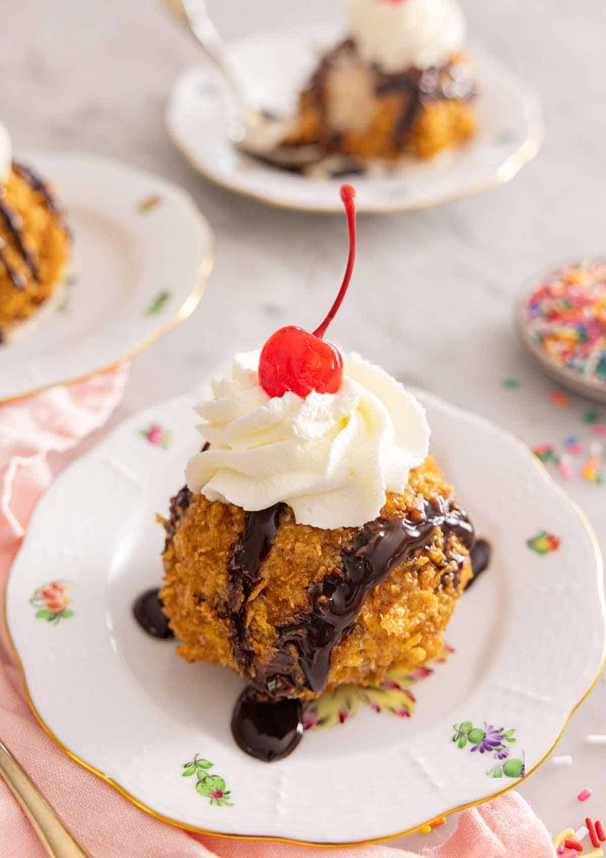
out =
[[[555,366],[606,384],[606,260],[551,271],[527,299],[525,317]]]

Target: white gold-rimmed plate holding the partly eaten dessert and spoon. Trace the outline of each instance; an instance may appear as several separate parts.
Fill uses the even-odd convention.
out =
[[[235,42],[233,62],[251,96],[280,115],[294,113],[297,94],[318,63],[318,46],[338,33],[305,28]],[[394,178],[355,177],[360,212],[427,208],[504,184],[531,160],[543,138],[541,106],[529,88],[473,50],[481,95],[480,127],[468,144],[430,161],[411,162]],[[214,69],[185,71],[167,106],[167,130],[199,172],[216,184],[281,208],[340,212],[342,179],[305,178],[252,160],[227,139],[226,100]]]

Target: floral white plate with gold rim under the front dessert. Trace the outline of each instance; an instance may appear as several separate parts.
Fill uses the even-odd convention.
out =
[[[420,396],[433,455],[493,545],[444,659],[321,698],[289,758],[245,756],[229,728],[243,681],[185,664],[132,616],[162,576],[155,516],[199,446],[191,399],[179,398],[126,420],[59,476],[10,573],[9,636],[58,745],[174,825],[306,843],[397,837],[530,776],[603,665],[597,541],[524,444]]]

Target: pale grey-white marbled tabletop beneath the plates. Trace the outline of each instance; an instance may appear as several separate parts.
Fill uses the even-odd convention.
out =
[[[542,153],[511,184],[419,214],[361,218],[355,282],[331,339],[381,363],[397,378],[486,414],[529,444],[579,434],[580,415],[548,398],[554,385],[526,357],[512,329],[512,302],[526,278],[551,261],[606,252],[604,233],[603,0],[463,0],[474,41],[541,95]],[[338,0],[209,0],[229,38],[263,28],[336,20]],[[309,328],[342,277],[343,218],[291,214],[230,196],[198,178],[173,150],[162,112],[174,78],[197,61],[195,45],[158,0],[21,0],[3,15],[0,117],[15,150],[109,155],[172,178],[215,227],[218,252],[194,315],[136,359],[116,420],[190,389],[238,348],[286,323]],[[504,377],[517,377],[506,390]],[[606,409],[603,409],[606,418]],[[595,440],[595,436],[593,436]],[[604,439],[606,441],[606,439]],[[575,466],[578,469],[578,464]],[[487,462],[487,480],[490,463]],[[567,489],[606,546],[606,486],[577,476]],[[566,629],[571,646],[582,629]],[[573,716],[557,754],[521,789],[551,831],[606,817],[606,682]],[[574,798],[585,786],[591,801]],[[409,849],[436,843],[406,839]]]

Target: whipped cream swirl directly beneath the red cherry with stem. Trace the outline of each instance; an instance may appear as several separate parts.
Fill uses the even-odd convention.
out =
[[[336,394],[270,397],[258,383],[258,352],[236,356],[215,396],[196,408],[209,450],[186,469],[192,492],[246,511],[284,502],[297,523],[361,527],[385,492],[403,492],[427,456],[429,426],[415,396],[357,354],[343,357]]]

